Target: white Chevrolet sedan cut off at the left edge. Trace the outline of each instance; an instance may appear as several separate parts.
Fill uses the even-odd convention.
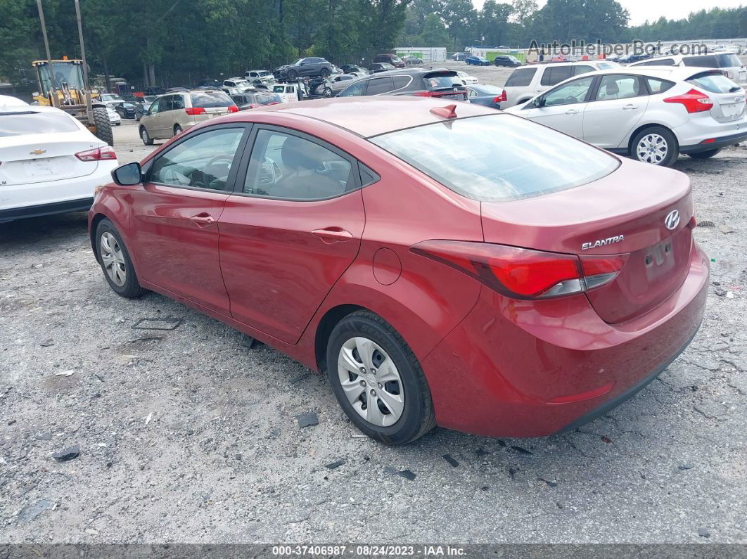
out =
[[[0,222],[87,210],[119,164],[78,120],[31,105],[3,107],[0,161]]]

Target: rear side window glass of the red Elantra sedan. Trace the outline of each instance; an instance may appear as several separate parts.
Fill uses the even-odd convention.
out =
[[[260,130],[243,192],[276,199],[320,200],[353,188],[353,166],[305,138]]]

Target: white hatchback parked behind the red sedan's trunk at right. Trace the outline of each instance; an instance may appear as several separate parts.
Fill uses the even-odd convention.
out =
[[[656,165],[705,159],[747,140],[745,91],[719,70],[589,72],[506,112]]]

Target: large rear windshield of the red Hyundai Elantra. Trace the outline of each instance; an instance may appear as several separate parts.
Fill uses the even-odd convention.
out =
[[[485,202],[577,187],[619,165],[601,149],[508,114],[436,122],[371,142],[456,193]]]

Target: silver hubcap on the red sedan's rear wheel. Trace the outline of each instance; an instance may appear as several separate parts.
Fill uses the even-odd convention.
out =
[[[345,342],[338,356],[338,376],[350,405],[377,427],[394,425],[405,409],[402,378],[381,346],[365,337]]]

